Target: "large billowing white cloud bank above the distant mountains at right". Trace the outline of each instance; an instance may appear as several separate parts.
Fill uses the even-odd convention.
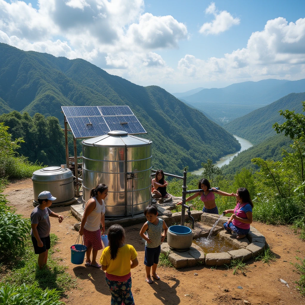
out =
[[[268,20],[264,30],[252,33],[247,47],[207,60],[185,55],[178,62],[185,76],[202,81],[268,77],[294,79],[305,73],[305,18],[288,23],[279,17]]]

